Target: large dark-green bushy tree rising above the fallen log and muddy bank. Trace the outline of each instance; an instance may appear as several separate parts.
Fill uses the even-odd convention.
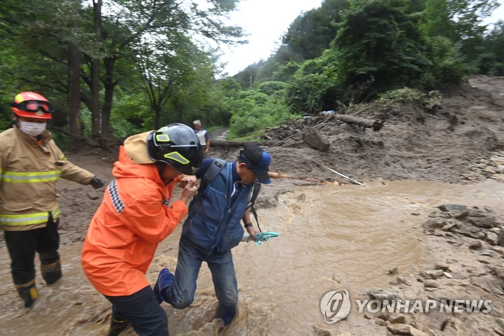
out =
[[[358,101],[397,87],[421,86],[430,62],[407,5],[405,0],[361,1],[346,13],[332,47],[340,85],[372,83],[354,97]]]

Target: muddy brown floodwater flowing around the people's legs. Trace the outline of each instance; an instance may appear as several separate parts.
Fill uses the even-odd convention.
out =
[[[203,264],[195,302],[184,310],[163,303],[170,334],[307,335],[313,326],[355,334],[358,321],[327,324],[320,300],[345,288],[353,298],[370,287],[387,288],[387,271],[400,273],[428,267],[429,253],[421,225],[443,203],[504,208],[504,184],[477,185],[393,181],[355,185],[296,187],[279,196],[278,206],[259,211],[263,231],[278,238],[233,249],[239,307],[233,323],[220,329],[213,320],[217,300],[211,275]],[[266,187],[267,188],[267,187]],[[174,269],[180,227],[162,242],[147,276],[152,284],[162,267]],[[103,335],[110,304],[87,281],[80,264],[81,244],[60,249],[64,277],[44,285],[37,270],[40,298],[31,310],[22,307],[11,283],[9,256],[0,254],[0,334]],[[341,322],[340,322],[341,323]],[[123,334],[135,334],[130,328]]]

